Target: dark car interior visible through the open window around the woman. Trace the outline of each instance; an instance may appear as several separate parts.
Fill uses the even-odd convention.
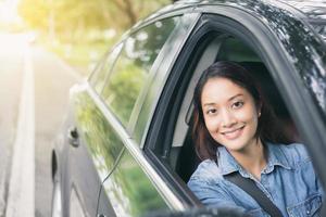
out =
[[[193,75],[187,87],[175,124],[172,146],[170,148],[170,167],[187,182],[191,174],[201,162],[195,151],[191,137],[192,94],[201,73],[216,61],[234,61],[246,67],[258,79],[267,103],[272,105],[275,114],[285,126],[287,133],[293,142],[300,142],[297,128],[283,101],[283,98],[269,75],[268,69],[260,58],[248,46],[237,38],[228,35],[215,37],[209,42],[200,55]]]

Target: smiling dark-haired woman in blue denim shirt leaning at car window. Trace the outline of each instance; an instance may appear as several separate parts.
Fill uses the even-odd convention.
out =
[[[279,216],[287,214],[289,204],[312,195],[310,205],[321,205],[323,191],[308,153],[302,144],[287,145],[247,69],[227,61],[213,64],[199,79],[193,101],[196,148],[206,159],[188,186],[204,204],[236,207],[254,216],[271,214],[228,181],[236,173],[267,193]]]

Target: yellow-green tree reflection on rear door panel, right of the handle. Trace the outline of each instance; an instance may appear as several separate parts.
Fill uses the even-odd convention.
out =
[[[86,92],[75,98],[75,107],[78,132],[91,154],[101,180],[103,180],[113,168],[123,143]]]

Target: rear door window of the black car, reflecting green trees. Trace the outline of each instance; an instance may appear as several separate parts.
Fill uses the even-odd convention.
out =
[[[150,68],[178,20],[158,21],[126,39],[102,94],[125,126],[149,78]]]

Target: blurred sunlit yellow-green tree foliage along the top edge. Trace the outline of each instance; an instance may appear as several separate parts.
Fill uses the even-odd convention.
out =
[[[134,25],[170,0],[21,0],[18,13],[30,28],[66,38],[78,38],[90,29]]]

